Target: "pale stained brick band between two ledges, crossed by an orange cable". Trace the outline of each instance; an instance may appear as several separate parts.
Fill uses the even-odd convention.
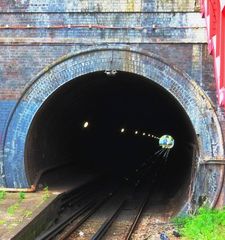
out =
[[[199,13],[6,14],[0,29],[3,45],[206,41]]]

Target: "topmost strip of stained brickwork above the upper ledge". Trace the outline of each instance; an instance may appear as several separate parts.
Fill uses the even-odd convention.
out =
[[[199,1],[193,0],[2,0],[4,12],[158,12],[198,11]]]

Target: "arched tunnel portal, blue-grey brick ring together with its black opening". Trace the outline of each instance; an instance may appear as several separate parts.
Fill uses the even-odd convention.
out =
[[[159,144],[148,134],[174,137],[168,158],[152,162]],[[148,180],[183,196],[186,210],[203,195],[213,204],[223,177],[223,169],[204,164],[223,156],[208,98],[185,73],[133,49],[76,53],[45,69],[17,104],[4,150],[6,184],[13,187],[65,166],[80,175],[134,176],[147,161]]]

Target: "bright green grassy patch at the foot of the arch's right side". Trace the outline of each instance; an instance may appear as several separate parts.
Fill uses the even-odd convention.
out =
[[[195,215],[176,217],[173,223],[182,239],[225,239],[225,207],[221,210],[201,207]]]

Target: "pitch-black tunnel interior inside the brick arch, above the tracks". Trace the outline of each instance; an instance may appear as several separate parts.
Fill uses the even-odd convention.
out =
[[[173,136],[167,158],[156,154],[158,139],[148,134]],[[127,72],[95,72],[60,87],[37,112],[26,140],[26,172],[30,184],[39,172],[65,166],[76,169],[72,175],[141,176],[173,196],[187,191],[194,144],[185,110],[161,86]],[[63,184],[56,175],[54,183]]]

